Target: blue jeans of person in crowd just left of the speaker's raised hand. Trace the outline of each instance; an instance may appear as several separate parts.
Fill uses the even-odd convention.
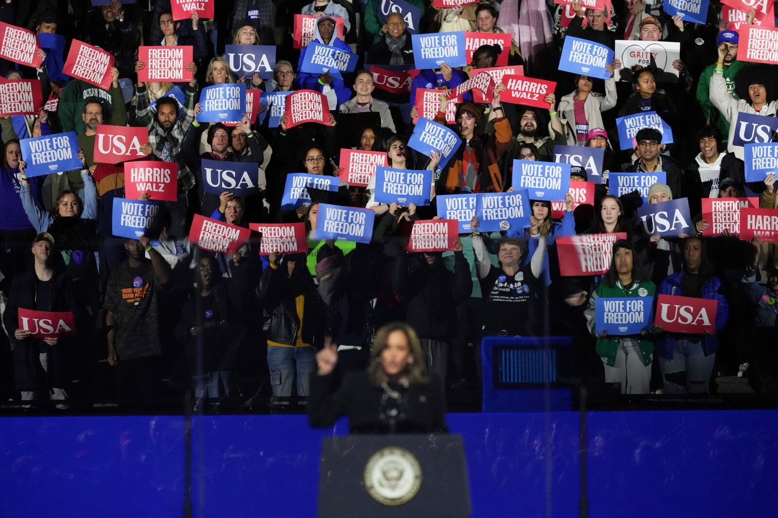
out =
[[[268,369],[274,396],[292,395],[297,379],[297,395],[307,396],[310,376],[316,368],[313,347],[279,347],[268,343]]]

